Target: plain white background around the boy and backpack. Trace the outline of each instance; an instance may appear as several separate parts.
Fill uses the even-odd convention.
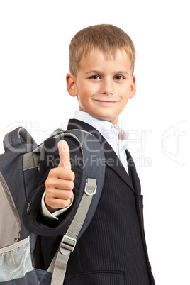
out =
[[[188,1],[1,1],[0,142],[18,125],[38,143],[65,128],[77,110],[69,42],[98,23],[125,30],[138,52],[137,93],[119,123],[131,133],[156,284],[190,284]]]

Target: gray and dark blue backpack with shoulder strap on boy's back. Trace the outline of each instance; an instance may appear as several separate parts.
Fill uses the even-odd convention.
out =
[[[60,242],[47,271],[35,268],[37,235],[23,225],[22,211],[26,199],[37,187],[40,145],[22,127],[4,137],[4,154],[0,155],[0,283],[2,285],[62,285],[67,261],[77,239],[82,236],[99,203],[104,185],[104,151],[99,140],[84,130],[55,131],[51,138],[69,136],[77,140],[82,151],[83,173],[79,186],[81,200],[77,213]],[[50,139],[51,139],[50,138]],[[93,150],[93,160],[90,151]],[[96,159],[95,159],[96,158]],[[104,161],[104,160],[102,160]],[[96,185],[97,184],[97,185]],[[28,204],[28,208],[30,205]]]

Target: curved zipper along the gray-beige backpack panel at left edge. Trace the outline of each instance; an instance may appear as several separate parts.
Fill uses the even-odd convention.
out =
[[[0,183],[3,186],[4,193],[6,194],[6,199],[9,202],[9,205],[11,206],[11,209],[13,211],[13,215],[16,218],[16,223],[18,224],[18,234],[14,238],[14,242],[18,242],[18,239],[20,238],[20,233],[21,233],[21,220],[20,220],[18,211],[16,210],[16,206],[15,206],[15,203],[13,201],[13,197],[11,195],[9,187],[6,184],[6,181],[5,181],[4,177],[3,177],[3,175],[1,174],[1,171],[0,171]]]

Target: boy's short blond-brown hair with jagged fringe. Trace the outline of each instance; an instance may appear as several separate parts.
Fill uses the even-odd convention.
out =
[[[69,45],[69,71],[74,77],[79,72],[82,56],[86,56],[93,49],[101,50],[106,57],[114,57],[117,50],[125,50],[130,57],[130,71],[133,75],[135,67],[135,46],[133,41],[121,28],[101,24],[84,28],[72,38]]]

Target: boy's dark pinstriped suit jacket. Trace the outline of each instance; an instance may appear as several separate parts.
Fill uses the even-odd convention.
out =
[[[69,258],[64,284],[154,285],[145,242],[143,196],[140,194],[140,181],[130,153],[126,152],[128,175],[116,153],[96,129],[82,121],[70,120],[67,129],[76,128],[89,131],[99,138],[106,158],[106,176],[96,213]],[[49,170],[57,166],[59,157],[55,147],[57,142],[47,140],[40,165],[39,187],[30,196],[30,214],[24,213],[26,228],[42,235],[40,239],[46,269],[61,236],[77,211],[77,188],[82,169],[76,157],[81,158],[82,155],[76,150],[72,138],[66,140],[75,173],[73,205],[62,214],[58,222],[47,220],[40,214],[44,182]],[[48,151],[50,149],[53,150],[51,153]]]

